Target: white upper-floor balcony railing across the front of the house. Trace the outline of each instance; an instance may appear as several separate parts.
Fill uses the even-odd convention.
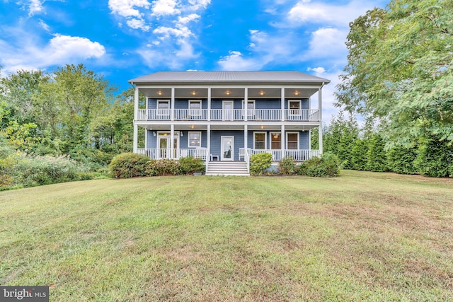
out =
[[[139,109],[140,121],[285,121],[318,122],[317,109]]]

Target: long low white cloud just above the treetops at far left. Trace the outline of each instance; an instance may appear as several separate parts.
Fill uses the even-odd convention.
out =
[[[103,45],[86,37],[55,35],[45,47],[33,44],[30,37],[23,38],[23,45],[16,47],[0,40],[3,50],[0,64],[4,66],[6,73],[13,73],[18,69],[46,69],[50,66],[79,62],[81,59],[99,59],[105,55]]]

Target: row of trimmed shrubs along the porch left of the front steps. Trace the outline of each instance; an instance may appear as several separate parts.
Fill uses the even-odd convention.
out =
[[[135,178],[141,176],[190,175],[205,172],[200,158],[184,157],[172,159],[150,159],[136,153],[122,153],[111,161],[110,175],[114,178]]]

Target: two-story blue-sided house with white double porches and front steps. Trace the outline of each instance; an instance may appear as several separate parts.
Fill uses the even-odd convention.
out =
[[[247,175],[254,153],[271,153],[275,164],[322,153],[322,131],[319,150],[312,150],[311,130],[321,130],[327,79],[298,71],[161,71],[129,82],[135,153],[200,157],[207,175]],[[146,108],[139,108],[139,91]],[[138,127],[145,129],[144,149],[137,146]]]

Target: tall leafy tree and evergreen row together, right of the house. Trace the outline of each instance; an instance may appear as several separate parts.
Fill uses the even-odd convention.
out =
[[[392,0],[350,23],[336,105],[378,127],[333,120],[343,168],[453,175],[452,16],[451,0]]]

